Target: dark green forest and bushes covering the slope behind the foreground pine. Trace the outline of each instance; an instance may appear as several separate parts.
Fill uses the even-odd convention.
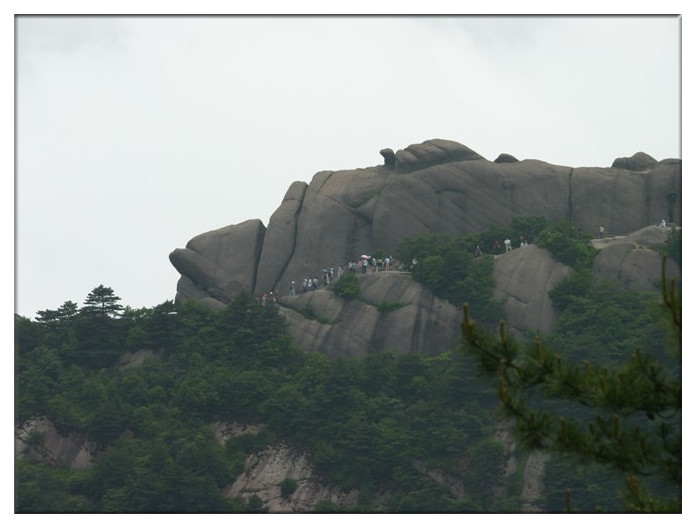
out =
[[[544,343],[569,362],[608,368],[639,347],[680,377],[680,356],[673,353],[680,335],[675,343],[659,294],[593,281],[588,239],[577,231],[555,237],[572,226],[531,218],[517,219],[517,227],[576,269],[552,294],[561,316]],[[469,303],[489,329],[500,316],[492,300],[492,257],[476,258],[473,248],[494,230],[477,238],[424,235],[399,247],[407,262],[428,255],[414,280],[453,303]],[[663,249],[680,252],[681,239],[671,243]],[[457,258],[453,251],[461,265],[448,267],[441,280],[442,262]],[[15,423],[47,417],[60,432],[85,435],[99,449],[90,468],[70,470],[43,462],[41,435],[30,437],[31,456],[15,460],[16,512],[263,512],[258,497],[243,501],[223,490],[249,454],[273,442],[311,453],[320,478],[359,491],[354,506],[325,502],[316,512],[520,510],[524,464],[500,489],[506,457],[496,432],[505,414],[495,374],[464,344],[440,355],[385,350],[329,360],[298,349],[277,307],[262,306],[249,293],[220,311],[170,301],[132,309],[120,301],[99,285],[82,307],[66,301],[36,320],[15,317]],[[154,357],[125,368],[123,355],[143,349]],[[542,407],[559,408],[546,397],[531,396]],[[576,407],[568,412],[582,420],[586,410]],[[678,413],[680,424],[680,407]],[[262,428],[223,445],[211,424],[233,421]],[[516,456],[523,461],[525,451]],[[586,460],[553,454],[542,511],[631,509],[627,471]],[[460,479],[463,498],[414,461]],[[656,474],[647,483],[657,496],[681,496],[680,480],[664,482]],[[284,496],[297,487],[291,480],[278,485]]]

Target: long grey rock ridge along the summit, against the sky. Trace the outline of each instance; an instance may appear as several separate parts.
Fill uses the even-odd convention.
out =
[[[381,166],[293,183],[268,227],[248,220],[174,250],[177,301],[222,306],[242,289],[287,291],[363,252],[393,251],[407,236],[466,234],[517,216],[570,219],[586,232],[603,225],[613,235],[662,219],[681,224],[680,160],[636,153],[609,168],[571,168],[504,154],[491,162],[441,139],[382,155]]]

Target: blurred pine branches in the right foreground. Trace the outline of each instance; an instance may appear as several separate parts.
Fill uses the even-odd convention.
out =
[[[667,286],[665,268],[666,255],[662,297],[678,367],[640,350],[615,368],[566,364],[538,337],[517,343],[504,322],[499,336],[486,332],[472,321],[468,305],[462,320],[464,350],[497,373],[503,410],[516,420],[522,443],[623,471],[626,508],[634,512],[681,512],[681,304],[674,280]],[[662,492],[649,491],[648,481],[659,481]]]

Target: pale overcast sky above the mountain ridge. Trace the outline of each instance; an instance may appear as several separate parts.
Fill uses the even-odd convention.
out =
[[[174,299],[168,255],[427,139],[681,158],[676,17],[18,17],[15,310]],[[330,226],[327,226],[330,229]]]

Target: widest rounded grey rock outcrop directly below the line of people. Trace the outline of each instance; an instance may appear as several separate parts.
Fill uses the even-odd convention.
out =
[[[333,358],[390,350],[439,354],[459,340],[461,311],[434,296],[407,273],[360,276],[360,299],[332,287],[283,297],[280,310],[300,348]]]

